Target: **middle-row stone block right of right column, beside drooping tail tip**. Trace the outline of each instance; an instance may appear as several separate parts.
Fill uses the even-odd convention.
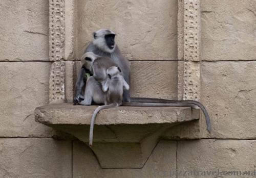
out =
[[[209,137],[255,139],[256,62],[203,62],[201,68],[201,101],[212,122]]]

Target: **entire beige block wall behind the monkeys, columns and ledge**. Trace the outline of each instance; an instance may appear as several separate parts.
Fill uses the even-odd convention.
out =
[[[77,3],[77,58],[94,30],[111,28],[131,60],[132,95],[178,98],[178,0]],[[102,169],[88,146],[53,139],[63,133],[34,121],[35,107],[49,102],[49,1],[0,1],[0,177],[254,171],[256,1],[201,0],[201,23],[200,101],[209,111],[211,134],[202,117],[199,127],[191,122],[166,132],[164,138],[173,140],[161,140],[142,169]]]

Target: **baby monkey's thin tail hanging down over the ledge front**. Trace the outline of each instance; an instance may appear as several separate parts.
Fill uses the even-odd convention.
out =
[[[98,114],[98,112],[102,109],[108,109],[108,108],[115,108],[118,107],[119,105],[117,103],[112,103],[110,105],[103,105],[103,106],[99,106],[98,108],[96,108],[93,112],[92,118],[91,118],[91,125],[90,125],[90,135],[89,135],[89,146],[92,147],[93,145],[93,128],[94,128],[94,121],[95,118]]]

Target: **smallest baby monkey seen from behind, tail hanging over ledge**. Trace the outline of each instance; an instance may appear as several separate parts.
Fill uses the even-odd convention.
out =
[[[116,66],[112,66],[106,70],[108,78],[105,80],[104,85],[102,85],[102,90],[105,92],[104,105],[99,106],[92,115],[91,125],[90,125],[90,137],[89,146],[93,145],[93,128],[94,120],[98,112],[102,109],[115,108],[122,105],[123,100],[123,90],[129,90],[129,85],[125,82],[123,76],[120,74],[121,69]]]

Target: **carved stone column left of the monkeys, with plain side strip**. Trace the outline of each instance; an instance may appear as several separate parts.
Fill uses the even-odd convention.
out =
[[[75,0],[49,1],[49,57],[53,61],[49,81],[50,103],[64,103],[73,98],[75,3]]]

